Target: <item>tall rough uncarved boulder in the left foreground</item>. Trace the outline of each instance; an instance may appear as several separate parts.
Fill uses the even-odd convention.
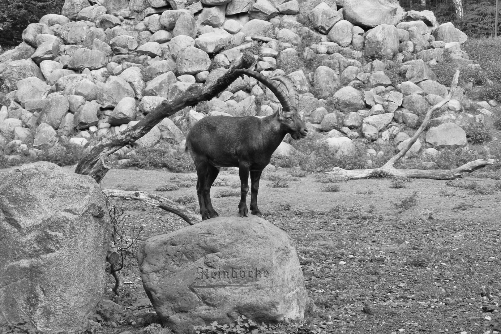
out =
[[[0,194],[3,319],[24,314],[44,332],[78,332],[106,287],[111,230],[99,184],[39,161],[7,174]]]

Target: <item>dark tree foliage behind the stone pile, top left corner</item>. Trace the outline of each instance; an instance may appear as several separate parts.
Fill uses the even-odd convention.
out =
[[[64,0],[0,0],[0,46],[15,47],[23,30],[46,14],[60,14]]]

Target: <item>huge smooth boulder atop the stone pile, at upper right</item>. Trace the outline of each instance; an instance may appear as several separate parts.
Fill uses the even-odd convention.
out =
[[[346,0],[343,3],[343,17],[356,26],[394,25],[404,15],[398,2],[391,0]]]

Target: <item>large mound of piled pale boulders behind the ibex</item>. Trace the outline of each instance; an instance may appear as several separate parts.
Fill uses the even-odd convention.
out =
[[[392,0],[66,0],[61,15],[29,25],[24,42],[0,56],[0,152],[37,155],[60,141],[92,147],[164,99],[213,82],[245,50],[259,54],[256,71],[264,75],[287,70],[312,140],[345,153],[353,140],[399,145],[448,93],[430,67],[445,55],[475,67],[461,50],[466,39],[451,23],[438,25],[432,12],[405,13]],[[308,73],[311,61],[319,66]],[[387,76],[396,67],[407,79],[399,85]],[[465,146],[457,124],[470,104],[456,88],[431,130],[451,125],[435,131],[440,139],[426,135],[426,144]],[[491,105],[479,106],[477,120]],[[203,117],[268,116],[278,106],[269,89],[244,77],[165,118],[136,144],[176,149]]]

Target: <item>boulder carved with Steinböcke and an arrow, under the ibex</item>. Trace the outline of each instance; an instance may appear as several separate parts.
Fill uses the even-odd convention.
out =
[[[259,323],[304,316],[308,297],[293,242],[255,215],[212,218],[154,236],[137,258],[157,314],[178,334],[239,315]]]

